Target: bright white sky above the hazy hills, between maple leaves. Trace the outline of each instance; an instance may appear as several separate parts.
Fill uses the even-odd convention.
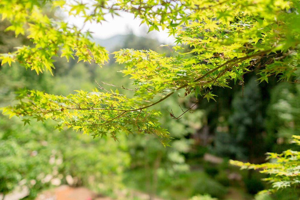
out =
[[[168,37],[167,30],[164,31],[151,31],[148,32],[148,27],[143,24],[140,26],[141,20],[134,19],[134,14],[120,12],[121,16],[106,17],[106,22],[100,23],[86,23],[84,30],[90,30],[93,32],[94,38],[106,39],[114,35],[125,35],[131,31],[138,36],[147,36],[156,38],[158,41],[164,44],[173,44],[174,38]],[[83,19],[80,17],[67,17],[67,22],[74,24],[81,28],[83,26]]]

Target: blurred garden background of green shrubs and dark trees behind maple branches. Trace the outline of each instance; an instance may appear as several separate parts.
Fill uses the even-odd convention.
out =
[[[30,45],[25,37],[4,32],[5,27],[7,23],[2,21],[0,53]],[[147,35],[143,30],[137,34],[138,30],[129,26],[125,32],[120,30],[122,35],[112,33],[105,39],[95,35],[93,40],[110,52],[133,48],[172,55],[169,48],[159,47],[164,39],[157,37],[165,36]],[[75,89],[90,91],[98,86],[95,81],[106,89],[113,89],[107,84],[132,87],[131,80],[118,72],[124,66],[116,64],[112,55],[102,68],[77,60],[55,60],[54,76],[46,72],[37,76],[16,63],[1,66],[0,107],[12,105],[14,92],[24,87],[56,95],[75,93]],[[43,192],[67,185],[93,191],[90,199],[184,200],[196,195],[202,196],[193,199],[299,199],[296,188],[256,195],[269,187],[261,181],[266,176],[228,164],[229,159],[262,163],[265,152],[297,150],[288,141],[291,135],[300,134],[300,85],[277,82],[274,77],[268,84],[258,83],[257,78],[253,72],[244,76],[244,85],[232,82],[232,89],[214,88],[216,102],[202,100],[180,120],[172,119],[169,111],[180,115],[182,109],[193,105],[194,97],[180,98],[183,92],[179,91],[157,105],[162,126],[173,138],[171,147],[164,147],[152,135],[120,134],[116,142],[105,137],[93,139],[72,130],[58,132],[51,121],[24,126],[22,119],[0,114],[1,196],[9,199],[19,191],[25,194],[20,198],[42,199]]]

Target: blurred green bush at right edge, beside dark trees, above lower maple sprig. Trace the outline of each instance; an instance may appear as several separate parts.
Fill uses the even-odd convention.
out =
[[[295,73],[300,75],[300,70]],[[272,152],[286,149],[300,150],[289,144],[292,135],[299,135],[300,130],[300,85],[282,82],[271,91],[271,98],[266,117],[266,143],[272,146]]]

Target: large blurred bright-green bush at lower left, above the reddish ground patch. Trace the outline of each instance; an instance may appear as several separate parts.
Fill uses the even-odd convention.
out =
[[[0,192],[29,188],[29,199],[50,186],[85,185],[102,191],[121,186],[129,165],[126,140],[93,139],[72,131],[53,131],[47,123],[23,126],[0,117]]]

